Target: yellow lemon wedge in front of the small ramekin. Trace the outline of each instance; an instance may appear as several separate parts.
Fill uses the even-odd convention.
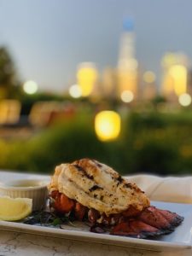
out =
[[[0,220],[15,221],[26,218],[32,212],[32,199],[0,197]]]

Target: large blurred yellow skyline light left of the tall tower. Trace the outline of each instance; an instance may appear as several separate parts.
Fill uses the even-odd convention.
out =
[[[83,63],[79,67],[77,79],[82,91],[82,96],[89,96],[96,84],[96,68],[91,63]]]

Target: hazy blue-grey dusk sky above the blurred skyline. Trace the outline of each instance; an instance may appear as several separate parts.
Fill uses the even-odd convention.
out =
[[[132,17],[137,60],[157,73],[166,51],[192,60],[191,0],[0,0],[0,45],[20,78],[41,90],[65,90],[79,62],[116,67],[123,20]]]

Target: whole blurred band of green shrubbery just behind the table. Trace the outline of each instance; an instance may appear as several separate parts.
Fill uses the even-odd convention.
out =
[[[41,131],[27,141],[0,141],[0,168],[52,173],[61,162],[84,157],[122,174],[192,173],[190,113],[129,113],[117,141],[102,143],[90,113],[79,114]]]

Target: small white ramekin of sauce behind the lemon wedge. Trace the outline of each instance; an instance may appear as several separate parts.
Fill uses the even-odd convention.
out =
[[[0,184],[0,195],[12,198],[32,198],[32,211],[43,209],[48,195],[48,181],[39,179],[15,179]]]

